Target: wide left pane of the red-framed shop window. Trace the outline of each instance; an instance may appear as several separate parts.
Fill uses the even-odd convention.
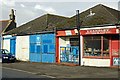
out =
[[[84,37],[84,56],[101,56],[101,36]]]

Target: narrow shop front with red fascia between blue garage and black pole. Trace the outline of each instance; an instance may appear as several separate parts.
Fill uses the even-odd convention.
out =
[[[56,35],[56,62],[73,63],[79,62],[77,29],[58,30]]]

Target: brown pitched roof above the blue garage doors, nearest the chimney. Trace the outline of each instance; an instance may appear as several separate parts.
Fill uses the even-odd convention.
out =
[[[56,24],[62,22],[65,19],[68,18],[58,15],[45,14],[11,31],[8,31],[6,34],[23,35],[23,34],[34,34],[43,31],[54,31]]]

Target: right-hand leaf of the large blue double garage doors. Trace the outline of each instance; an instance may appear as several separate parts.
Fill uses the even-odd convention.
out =
[[[42,62],[55,62],[55,35],[42,34]]]

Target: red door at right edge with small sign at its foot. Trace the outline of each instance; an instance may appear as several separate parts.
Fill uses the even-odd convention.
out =
[[[120,58],[119,58],[119,49],[120,49],[120,40],[118,35],[114,35],[114,37],[111,38],[111,66],[118,66],[120,65]]]

